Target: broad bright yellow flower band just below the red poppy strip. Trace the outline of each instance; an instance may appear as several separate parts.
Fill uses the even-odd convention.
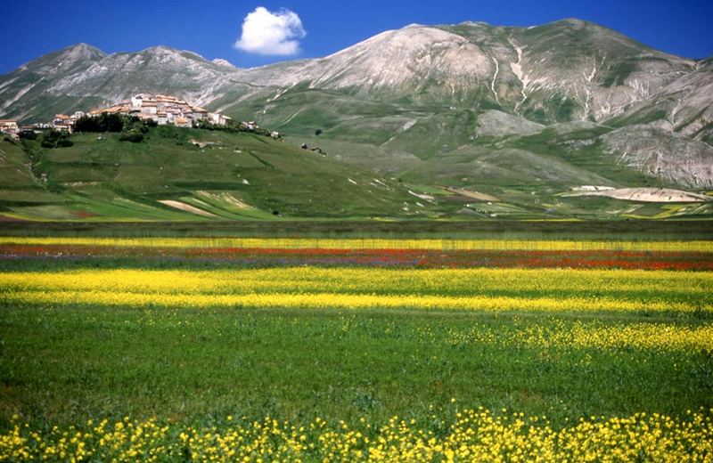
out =
[[[692,312],[713,273],[622,270],[109,270],[0,273],[9,304]]]

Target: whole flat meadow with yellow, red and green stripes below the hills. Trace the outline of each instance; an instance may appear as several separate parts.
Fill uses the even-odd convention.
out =
[[[702,229],[12,234],[0,460],[713,458]]]

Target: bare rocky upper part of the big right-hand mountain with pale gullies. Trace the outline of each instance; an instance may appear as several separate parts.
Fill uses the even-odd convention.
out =
[[[609,118],[696,67],[581,20],[534,28],[411,25],[295,64],[247,69],[242,80],[307,82],[382,102],[490,107],[545,123]]]

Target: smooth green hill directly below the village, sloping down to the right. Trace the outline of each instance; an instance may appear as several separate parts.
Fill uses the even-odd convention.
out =
[[[396,180],[257,134],[152,128],[143,142],[0,142],[0,209],[39,220],[280,220],[430,216]],[[163,201],[163,202],[160,202]],[[420,206],[416,204],[420,202]]]

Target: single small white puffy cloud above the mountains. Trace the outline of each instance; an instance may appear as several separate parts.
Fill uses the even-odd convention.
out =
[[[258,6],[242,21],[242,35],[235,48],[258,54],[297,54],[299,39],[306,35],[296,12],[285,9],[270,12]]]

